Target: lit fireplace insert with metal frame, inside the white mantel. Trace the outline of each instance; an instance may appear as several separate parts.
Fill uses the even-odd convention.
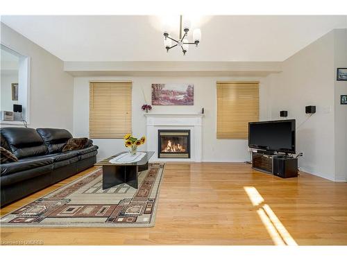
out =
[[[190,158],[190,130],[158,130],[158,158]]]

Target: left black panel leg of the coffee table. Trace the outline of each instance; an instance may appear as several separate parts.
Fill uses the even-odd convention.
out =
[[[103,189],[125,182],[126,166],[103,166]]]

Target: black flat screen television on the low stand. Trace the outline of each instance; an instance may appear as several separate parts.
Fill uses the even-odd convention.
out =
[[[295,119],[248,123],[248,146],[270,152],[295,153]]]

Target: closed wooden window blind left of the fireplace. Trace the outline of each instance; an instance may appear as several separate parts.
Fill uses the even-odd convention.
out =
[[[90,138],[123,138],[131,133],[130,81],[90,82]]]

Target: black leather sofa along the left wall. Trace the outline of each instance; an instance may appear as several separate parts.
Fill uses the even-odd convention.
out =
[[[18,162],[1,164],[1,207],[44,189],[96,163],[98,146],[62,153],[72,138],[69,131],[55,128],[1,128],[1,147]]]

